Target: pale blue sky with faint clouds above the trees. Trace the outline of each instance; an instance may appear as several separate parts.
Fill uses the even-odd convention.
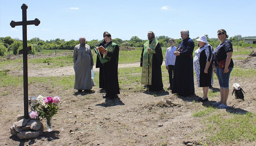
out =
[[[148,31],[178,39],[182,29],[191,38],[217,38],[218,29],[230,37],[256,36],[255,0],[0,0],[0,37],[22,39],[22,26],[10,22],[22,21],[23,3],[27,20],[41,21],[27,27],[28,39],[102,40],[104,31],[122,40],[147,39]]]

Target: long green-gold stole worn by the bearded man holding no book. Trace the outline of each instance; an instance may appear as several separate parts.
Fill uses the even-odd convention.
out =
[[[155,48],[158,44],[156,38],[153,39],[151,44],[147,40],[144,44],[143,60],[142,60],[142,85],[151,85],[152,81],[152,57],[155,54]],[[151,52],[147,52],[148,48],[151,48]],[[149,57],[149,58],[148,58]]]

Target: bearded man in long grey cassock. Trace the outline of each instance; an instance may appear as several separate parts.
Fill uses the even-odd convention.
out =
[[[96,86],[95,82],[91,79],[91,69],[94,65],[91,48],[85,42],[85,38],[81,37],[79,39],[80,44],[74,47],[73,53],[75,70],[74,89],[78,90],[78,92],[90,90],[92,86]]]

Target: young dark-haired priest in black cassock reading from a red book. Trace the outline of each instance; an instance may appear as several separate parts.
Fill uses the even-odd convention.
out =
[[[118,83],[118,55],[119,46],[111,40],[111,34],[104,34],[106,44],[103,47],[107,50],[104,52],[103,60],[103,78],[106,95],[103,98],[114,99],[120,94]]]

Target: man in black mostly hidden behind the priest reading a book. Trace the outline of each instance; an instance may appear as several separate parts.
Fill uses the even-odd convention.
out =
[[[105,31],[103,33],[103,37],[104,37],[104,34],[106,34],[106,33],[108,33],[108,32]],[[103,39],[102,42],[98,45],[98,47],[103,46],[104,44],[106,44],[106,42]],[[103,55],[101,56],[101,58],[103,58]],[[100,86],[100,88],[104,89],[105,86],[104,86],[104,77],[103,77],[103,65],[100,62],[100,59],[99,59],[98,55],[97,55],[97,60],[96,60],[96,68],[100,68],[99,69],[99,86]]]

